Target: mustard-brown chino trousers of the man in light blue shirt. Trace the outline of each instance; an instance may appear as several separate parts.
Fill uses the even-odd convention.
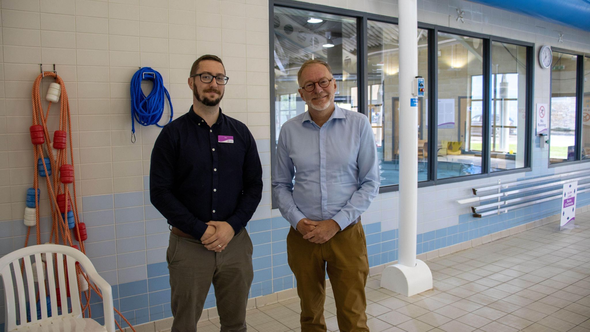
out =
[[[326,271],[336,300],[340,331],[369,332],[365,314],[369,260],[360,221],[322,244],[303,239],[291,227],[287,235],[287,259],[301,299],[301,332],[326,331]]]

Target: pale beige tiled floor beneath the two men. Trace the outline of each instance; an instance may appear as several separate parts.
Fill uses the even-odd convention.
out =
[[[404,297],[366,287],[371,332],[590,332],[590,212],[428,261],[434,289]],[[324,317],[338,331],[332,290]],[[248,331],[301,331],[299,299],[248,311]],[[219,319],[199,323],[219,331]]]

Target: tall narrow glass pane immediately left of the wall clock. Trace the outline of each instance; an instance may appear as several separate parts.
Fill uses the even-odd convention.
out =
[[[490,171],[492,172],[525,167],[526,65],[525,46],[497,41],[491,44],[493,102],[490,108]],[[471,119],[471,125],[473,125],[473,118]],[[473,133],[473,127],[471,133]]]

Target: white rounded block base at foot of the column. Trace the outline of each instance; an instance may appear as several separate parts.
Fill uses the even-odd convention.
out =
[[[432,289],[432,273],[426,263],[416,260],[416,266],[394,264],[383,269],[381,287],[411,297]]]

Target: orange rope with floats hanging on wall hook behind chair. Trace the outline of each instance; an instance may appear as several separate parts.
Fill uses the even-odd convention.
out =
[[[61,241],[64,243],[64,245],[68,245],[68,246],[73,245],[71,232],[68,227],[67,209],[65,209],[64,216],[62,216],[59,206],[57,204],[57,195],[64,194],[65,201],[66,201],[65,206],[67,207],[69,205],[71,207],[71,211],[74,214],[74,222],[76,224],[76,227],[74,227],[74,232],[76,232],[77,238],[80,239],[80,241],[78,241],[78,244],[80,245],[80,251],[83,252],[84,254],[86,254],[86,245],[84,244],[84,241],[80,237],[80,229],[78,227],[78,224],[80,224],[80,219],[78,217],[78,208],[77,208],[78,202],[77,202],[77,193],[76,193],[76,180],[74,178],[74,182],[72,183],[72,190],[73,190],[73,194],[74,194],[74,197],[73,197],[74,199],[72,200],[72,197],[70,194],[71,193],[70,187],[67,184],[62,184],[60,181],[60,177],[58,176],[61,165],[67,164],[67,160],[68,160],[67,149],[63,149],[63,150],[60,149],[57,151],[57,155],[55,155],[55,156],[53,155],[50,132],[48,131],[48,128],[47,128],[47,119],[49,118],[52,103],[49,102],[49,105],[47,106],[47,112],[44,113],[43,106],[41,103],[40,91],[39,91],[39,88],[41,86],[41,80],[43,79],[44,76],[54,77],[55,82],[60,84],[60,86],[61,86],[59,130],[68,132],[68,137],[70,139],[70,141],[68,142],[68,145],[70,148],[70,164],[72,166],[74,165],[74,148],[72,147],[72,144],[71,144],[72,130],[71,130],[70,103],[68,102],[68,94],[67,94],[67,91],[65,90],[65,84],[64,84],[63,80],[61,79],[61,77],[57,76],[57,74],[54,73],[53,71],[45,71],[44,73],[39,74],[39,76],[37,76],[37,79],[35,79],[35,82],[33,83],[33,87],[32,87],[32,92],[31,92],[31,100],[32,100],[32,106],[33,106],[32,124],[38,125],[41,123],[41,125],[42,125],[44,136],[45,136],[45,148],[47,151],[47,156],[50,160],[51,170],[53,171],[53,185],[51,184],[50,175],[48,173],[48,168],[47,168],[47,165],[45,164],[43,147],[42,147],[42,145],[35,145],[35,147],[33,148],[33,157],[35,160],[35,167],[34,167],[35,174],[34,174],[34,180],[33,180],[33,188],[35,190],[35,206],[37,207],[37,209],[35,209],[36,210],[36,217],[37,217],[37,225],[36,225],[37,244],[38,245],[41,244],[41,228],[40,228],[39,209],[38,209],[39,198],[37,196],[37,189],[39,188],[39,167],[38,167],[37,161],[41,158],[43,170],[45,171],[45,182],[47,183],[48,196],[50,198],[49,199],[49,206],[50,206],[51,220],[52,220],[51,233],[50,233],[50,243],[57,243],[58,244],[58,243],[60,243],[60,238],[61,238]],[[30,232],[31,232],[31,227],[28,227],[27,237],[25,238],[25,247],[28,246]],[[54,266],[56,266],[56,268],[57,268],[57,264],[54,264]],[[21,266],[21,272],[22,272],[22,266]],[[55,271],[54,271],[54,273],[55,273]],[[100,298],[103,298],[103,296],[100,292],[100,289],[97,288],[96,285],[94,285],[93,283],[90,282],[90,279],[88,278],[88,276],[86,274],[82,273],[82,270],[79,265],[76,266],[76,273],[77,273],[77,275],[80,275],[80,274],[83,275],[84,279],[86,279],[86,282],[89,285],[89,288],[86,291],[80,291],[80,305],[83,308],[83,310],[82,310],[83,315],[85,315],[86,310],[88,310],[88,317],[91,317],[90,290],[92,289],[94,292],[96,292],[96,294],[99,295]],[[65,272],[65,276],[66,276],[66,284],[68,285],[69,282],[67,280],[67,271]],[[78,290],[79,290],[80,289],[80,279],[76,278],[76,282],[78,283]],[[86,299],[86,304],[82,304],[82,296],[81,295],[83,293],[84,293],[84,298]],[[37,295],[37,298],[38,298],[38,295]],[[66,301],[66,300],[64,299],[63,301]],[[125,323],[127,323],[127,325],[129,327],[131,327],[133,332],[135,332],[135,328],[133,328],[133,326],[129,323],[129,321],[120,313],[120,311],[117,310],[116,308],[113,308],[113,309],[117,314],[119,314],[119,316],[125,321]],[[117,327],[119,327],[119,330],[123,331],[123,328],[120,326],[120,324],[119,324],[119,322],[117,322],[117,320],[115,320],[114,323],[117,325]]]

